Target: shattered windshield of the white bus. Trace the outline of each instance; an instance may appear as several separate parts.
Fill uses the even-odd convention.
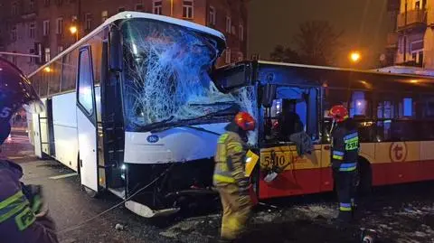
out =
[[[210,78],[221,51],[217,37],[147,19],[128,20],[122,33],[128,130],[218,115],[236,105]]]

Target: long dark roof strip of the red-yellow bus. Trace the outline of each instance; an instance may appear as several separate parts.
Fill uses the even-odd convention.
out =
[[[280,72],[280,83],[316,81],[319,85],[336,89],[372,89],[392,92],[434,92],[434,77],[396,74],[373,70],[354,70],[335,67],[258,61],[262,72]],[[269,68],[267,68],[267,66]],[[279,69],[280,68],[280,69]],[[267,75],[267,73],[261,73]],[[269,77],[269,76],[265,76]]]

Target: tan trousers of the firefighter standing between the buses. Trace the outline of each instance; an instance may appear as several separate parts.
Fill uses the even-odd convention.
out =
[[[224,239],[239,238],[250,218],[252,203],[250,195],[241,195],[238,185],[219,185],[217,189],[222,200],[222,233]]]

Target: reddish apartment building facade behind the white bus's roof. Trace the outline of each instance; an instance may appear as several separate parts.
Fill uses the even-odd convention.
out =
[[[228,49],[218,65],[240,61],[247,53],[247,0],[0,0],[0,51],[35,53],[40,47],[49,61],[123,11],[163,14],[219,30]],[[72,26],[78,33],[71,33]],[[35,58],[8,59],[24,73],[39,66]]]

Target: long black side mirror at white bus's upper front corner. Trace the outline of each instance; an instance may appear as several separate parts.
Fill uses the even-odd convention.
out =
[[[121,71],[122,62],[122,38],[118,27],[110,26],[109,33],[109,70]]]

